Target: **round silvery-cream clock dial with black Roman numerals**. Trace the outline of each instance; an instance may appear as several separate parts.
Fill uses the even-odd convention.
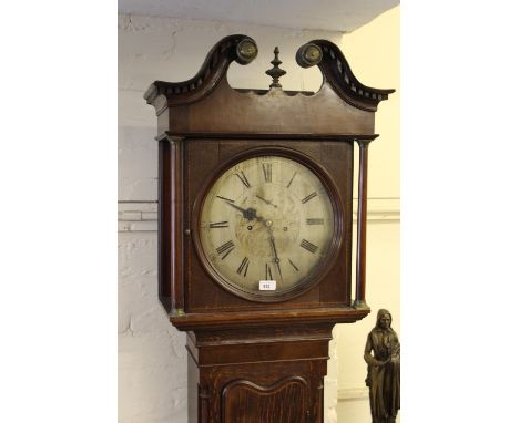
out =
[[[269,155],[226,169],[205,195],[199,226],[220,280],[272,298],[319,276],[336,221],[322,179],[299,162]]]

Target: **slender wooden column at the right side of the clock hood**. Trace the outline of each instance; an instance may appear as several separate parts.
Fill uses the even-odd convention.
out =
[[[368,309],[366,303],[366,217],[367,217],[367,163],[370,140],[358,143],[358,207],[357,207],[357,272],[355,286],[356,309]]]

